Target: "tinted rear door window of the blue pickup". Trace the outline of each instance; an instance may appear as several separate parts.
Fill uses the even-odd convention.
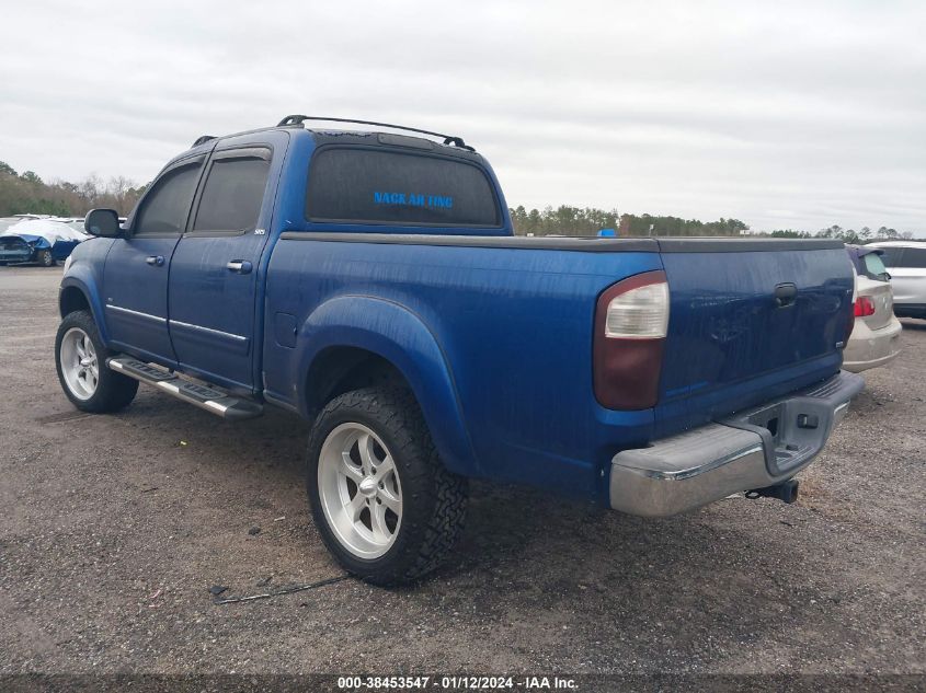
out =
[[[217,159],[209,168],[193,231],[236,234],[258,226],[270,161],[256,157]]]

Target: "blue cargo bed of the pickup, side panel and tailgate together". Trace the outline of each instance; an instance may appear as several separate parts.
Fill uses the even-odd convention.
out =
[[[592,396],[596,299],[652,270],[666,272],[672,299],[660,402],[604,408]],[[779,282],[799,289],[785,317],[771,304]],[[307,344],[310,316],[329,301],[364,299],[371,332],[387,335],[375,302],[401,307],[434,336],[451,373],[471,443],[468,454],[442,450],[451,469],[587,496],[620,449],[836,373],[850,293],[834,241],[289,231],[273,251],[265,301],[304,326]],[[299,406],[291,383],[305,354],[266,333],[266,392]]]

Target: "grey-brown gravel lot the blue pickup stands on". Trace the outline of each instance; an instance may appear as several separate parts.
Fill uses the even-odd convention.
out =
[[[219,605],[215,585],[341,575],[306,507],[306,424],[144,386],[79,414],[55,374],[59,277],[0,268],[0,673],[926,672],[926,323],[866,373],[797,505],[647,521],[477,485],[450,565],[414,589]]]

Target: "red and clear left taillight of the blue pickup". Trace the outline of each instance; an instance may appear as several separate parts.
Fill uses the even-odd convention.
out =
[[[595,399],[609,409],[647,409],[659,399],[668,328],[668,282],[647,272],[606,289],[595,311]]]

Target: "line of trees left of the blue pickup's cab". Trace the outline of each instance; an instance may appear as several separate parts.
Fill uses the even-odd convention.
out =
[[[124,176],[103,181],[91,175],[79,183],[46,183],[32,171],[20,174],[0,161],[0,217],[27,213],[83,217],[94,207],[107,207],[125,216],[146,187],[136,186]]]

